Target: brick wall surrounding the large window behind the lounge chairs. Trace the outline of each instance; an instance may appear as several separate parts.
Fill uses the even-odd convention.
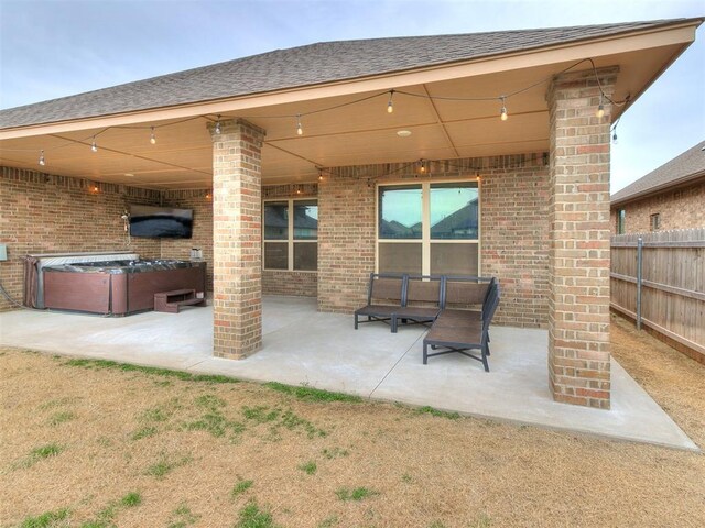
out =
[[[547,167],[539,155],[433,162],[420,176],[414,164],[337,167],[318,189],[318,308],[349,314],[365,304],[375,271],[376,184],[480,176],[480,261],[499,277],[496,321],[547,323]]]

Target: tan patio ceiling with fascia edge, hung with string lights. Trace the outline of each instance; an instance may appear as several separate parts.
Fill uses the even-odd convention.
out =
[[[206,125],[217,114],[240,117],[267,131],[264,184],[313,182],[317,167],[547,151],[551,76],[587,57],[598,68],[617,65],[612,97],[633,101],[693,41],[695,25],[288,92],[4,130],[0,164],[137,187],[206,188],[213,177]],[[583,63],[575,70],[590,67]],[[507,100],[509,120],[500,121],[499,96],[534,84]],[[390,89],[421,97],[397,92],[390,114]],[[306,116],[346,102],[351,105]],[[612,119],[621,111],[616,108]],[[304,116],[303,135],[296,134],[296,114]],[[149,141],[150,127],[156,127],[155,144]],[[400,138],[400,130],[411,135]],[[90,151],[94,134],[96,153]]]

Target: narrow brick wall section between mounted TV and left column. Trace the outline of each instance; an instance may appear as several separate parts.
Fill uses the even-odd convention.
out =
[[[162,239],[162,258],[191,258],[192,248],[203,251],[207,263],[206,287],[213,290],[213,191],[212,189],[166,190],[162,193],[162,205],[181,209],[193,209],[194,230],[191,239]]]

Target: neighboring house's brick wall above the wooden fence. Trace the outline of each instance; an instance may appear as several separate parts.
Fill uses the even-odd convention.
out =
[[[705,180],[612,207],[611,233],[617,234],[617,209],[625,209],[625,233],[651,231],[651,215],[660,213],[660,231],[705,227]]]

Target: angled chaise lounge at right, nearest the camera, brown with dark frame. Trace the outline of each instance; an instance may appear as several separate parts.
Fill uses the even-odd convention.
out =
[[[471,310],[452,312],[444,318],[445,310],[442,311],[423,339],[423,364],[427,364],[429,358],[457,352],[480,361],[485,372],[489,372],[489,326],[499,306],[499,284],[492,280],[484,299],[480,318]],[[430,353],[429,346],[432,350],[445,350]],[[473,354],[471,350],[479,350],[480,355]]]

